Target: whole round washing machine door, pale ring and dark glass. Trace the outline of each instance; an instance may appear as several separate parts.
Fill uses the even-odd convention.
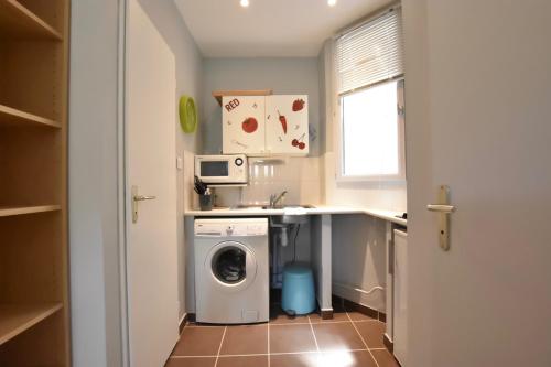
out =
[[[246,245],[224,241],[214,246],[205,259],[213,283],[228,292],[247,289],[257,276],[257,260]]]

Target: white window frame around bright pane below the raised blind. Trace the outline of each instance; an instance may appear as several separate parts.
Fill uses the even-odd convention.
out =
[[[336,74],[336,72],[334,72]],[[336,108],[335,118],[337,120],[338,128],[336,129],[336,181],[339,183],[372,183],[372,182],[387,182],[387,183],[404,183],[406,182],[406,119],[404,114],[398,114],[397,111],[397,123],[398,123],[398,173],[397,174],[372,174],[372,175],[345,175],[344,174],[344,120],[343,120],[343,97],[349,94],[361,91],[363,89],[368,89],[376,87],[377,85],[398,82],[401,83],[397,88],[398,102],[401,109],[404,110],[404,76],[400,76],[393,79],[383,80],[374,85],[366,86],[364,88],[357,88],[344,94],[336,94]],[[398,109],[398,106],[397,106]]]

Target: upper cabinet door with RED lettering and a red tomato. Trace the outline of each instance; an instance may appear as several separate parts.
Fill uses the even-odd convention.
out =
[[[264,108],[264,96],[223,97],[224,154],[266,154]]]

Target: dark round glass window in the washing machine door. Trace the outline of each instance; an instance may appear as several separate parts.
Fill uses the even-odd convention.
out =
[[[214,253],[212,267],[220,282],[239,283],[247,278],[247,252],[236,246],[223,247]]]

